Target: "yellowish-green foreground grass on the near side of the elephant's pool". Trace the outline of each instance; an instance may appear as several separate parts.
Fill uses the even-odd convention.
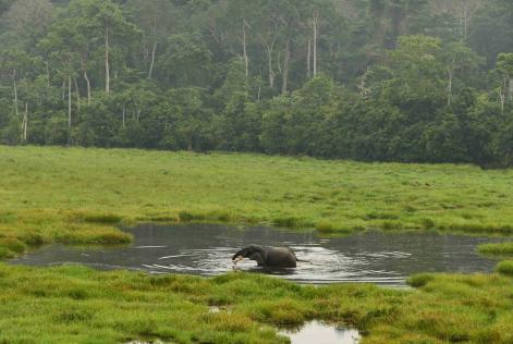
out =
[[[418,275],[417,290],[400,291],[300,286],[254,273],[203,279],[0,263],[0,342],[286,343],[278,328],[319,319],[357,328],[364,343],[511,343],[512,282]]]

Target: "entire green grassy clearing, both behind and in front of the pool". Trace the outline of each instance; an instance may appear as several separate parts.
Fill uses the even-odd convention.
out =
[[[136,221],[513,233],[511,170],[2,146],[0,163],[0,258],[127,243],[115,225]],[[356,327],[365,343],[512,343],[513,256],[481,250],[510,260],[489,275],[413,277],[408,291],[0,262],[0,343],[279,343],[277,327],[308,319]]]

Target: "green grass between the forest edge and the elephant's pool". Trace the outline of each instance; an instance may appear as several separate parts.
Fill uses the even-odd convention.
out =
[[[259,155],[0,146],[0,256],[119,243],[119,221],[513,232],[513,171]]]

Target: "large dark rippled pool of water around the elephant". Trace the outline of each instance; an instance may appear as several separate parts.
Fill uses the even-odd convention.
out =
[[[151,273],[216,275],[232,270],[278,275],[300,283],[368,282],[405,286],[417,272],[490,272],[494,262],[476,254],[478,244],[498,239],[436,233],[358,233],[322,237],[314,232],[269,228],[240,230],[225,225],[143,224],[126,229],[135,236],[130,247],[49,245],[12,261],[15,265],[82,263],[99,269],[133,269]],[[249,244],[289,246],[300,259],[296,269],[269,270],[232,255]]]

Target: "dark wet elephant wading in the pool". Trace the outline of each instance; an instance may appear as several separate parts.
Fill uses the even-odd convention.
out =
[[[288,247],[262,247],[259,245],[249,245],[239,250],[232,257],[233,263],[237,263],[244,258],[256,260],[259,267],[269,268],[295,268],[300,260]],[[306,261],[309,262],[309,261]]]

